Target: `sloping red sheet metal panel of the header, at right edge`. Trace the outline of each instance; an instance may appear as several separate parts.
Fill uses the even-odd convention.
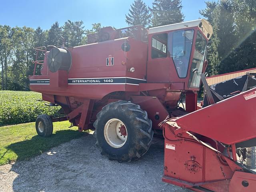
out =
[[[225,144],[256,138],[256,88],[176,120],[178,132],[193,131]]]

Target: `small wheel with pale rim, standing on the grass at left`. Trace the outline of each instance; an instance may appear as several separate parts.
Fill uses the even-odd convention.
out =
[[[46,114],[42,114],[36,119],[36,132],[39,136],[49,137],[53,132],[52,119]]]

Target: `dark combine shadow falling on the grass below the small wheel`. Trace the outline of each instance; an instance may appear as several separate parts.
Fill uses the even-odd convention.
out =
[[[29,140],[10,144],[6,148],[7,150],[12,150],[16,153],[18,156],[17,160],[28,160],[34,156],[42,154],[50,148],[56,147],[72,139],[79,138],[84,134],[86,133],[81,133],[75,130],[60,130],[56,131],[56,133],[52,134],[50,137],[44,138],[36,135]]]

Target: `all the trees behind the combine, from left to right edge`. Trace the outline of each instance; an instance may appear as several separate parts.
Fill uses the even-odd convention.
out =
[[[212,75],[256,67],[256,1],[206,1],[199,10],[213,26],[214,34],[208,43],[208,72]],[[146,28],[184,21],[182,0],[154,0],[151,7],[143,0],[134,0],[125,15],[128,26]],[[29,90],[28,76],[32,75],[35,47],[60,46],[61,36],[66,46],[86,44],[86,34],[98,32],[100,23],[86,30],[82,21],[68,20],[63,26],[55,22],[49,30],[38,27],[0,25],[0,90]],[[43,60],[43,55],[39,55]]]

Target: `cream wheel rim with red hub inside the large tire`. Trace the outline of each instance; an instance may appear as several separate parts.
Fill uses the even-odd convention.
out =
[[[114,147],[122,147],[127,140],[127,129],[125,124],[120,119],[110,119],[104,126],[104,137],[106,142]]]

